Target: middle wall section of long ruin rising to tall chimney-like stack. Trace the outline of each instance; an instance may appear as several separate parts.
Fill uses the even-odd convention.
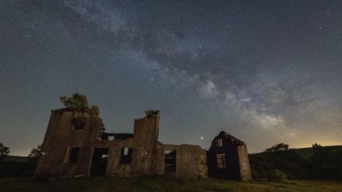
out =
[[[93,147],[109,148],[107,162],[108,176],[147,176],[158,174],[157,161],[157,132],[159,114],[152,117],[135,119],[133,138],[115,141],[96,141]],[[132,148],[130,164],[120,163],[121,150]]]

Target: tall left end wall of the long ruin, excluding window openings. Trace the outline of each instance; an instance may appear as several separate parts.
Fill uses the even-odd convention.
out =
[[[85,118],[83,129],[73,129],[71,121],[75,117]],[[87,174],[86,167],[90,164],[89,141],[93,141],[98,136],[100,129],[100,118],[92,116],[86,112],[64,112],[52,110],[46,135],[44,137],[41,151],[43,156],[38,159],[36,164],[36,176],[59,176],[61,174]],[[80,147],[79,158],[83,162],[73,165],[66,165],[68,147]],[[63,168],[70,166],[70,168]],[[77,171],[76,171],[77,170]]]

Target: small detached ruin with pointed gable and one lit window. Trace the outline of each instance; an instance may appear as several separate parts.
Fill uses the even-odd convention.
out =
[[[247,145],[226,132],[219,132],[212,141],[207,161],[210,177],[242,181],[252,179]]]

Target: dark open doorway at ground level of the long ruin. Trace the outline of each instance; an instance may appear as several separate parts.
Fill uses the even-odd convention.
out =
[[[108,148],[94,148],[90,165],[90,176],[105,176]]]

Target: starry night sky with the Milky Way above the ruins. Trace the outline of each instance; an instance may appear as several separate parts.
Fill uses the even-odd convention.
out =
[[[27,155],[80,92],[108,132],[160,110],[167,144],[342,144],[341,44],[342,1],[4,0],[0,142]]]

